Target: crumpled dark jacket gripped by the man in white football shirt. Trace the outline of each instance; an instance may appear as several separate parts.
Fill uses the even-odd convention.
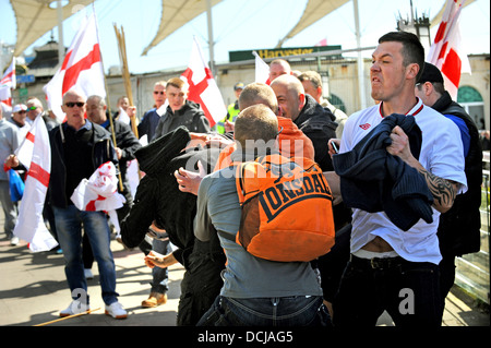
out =
[[[419,158],[421,130],[411,115],[392,113],[383,119],[352,151],[333,156],[340,177],[343,201],[369,213],[385,212],[404,231],[420,218],[433,221],[433,196],[424,177],[385,149],[391,132],[399,125],[409,137],[411,153]]]

